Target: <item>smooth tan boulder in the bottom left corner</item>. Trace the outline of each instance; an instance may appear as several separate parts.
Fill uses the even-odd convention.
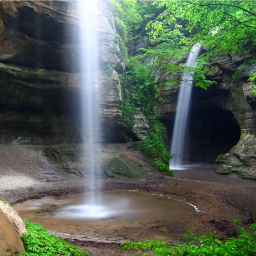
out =
[[[0,255],[13,256],[25,252],[20,235],[26,232],[23,221],[12,207],[0,202]]]

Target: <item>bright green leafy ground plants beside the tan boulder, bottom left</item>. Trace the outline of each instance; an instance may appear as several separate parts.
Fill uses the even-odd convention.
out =
[[[27,232],[22,234],[26,253],[18,256],[88,256],[84,250],[47,233],[44,227],[25,221]]]

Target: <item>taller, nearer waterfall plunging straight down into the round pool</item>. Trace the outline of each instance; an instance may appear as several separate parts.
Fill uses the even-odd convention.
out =
[[[86,204],[95,205],[95,179],[100,184],[100,103],[99,103],[99,35],[95,1],[79,0],[80,13],[80,67],[81,67],[81,119],[86,155],[86,180],[90,186],[90,197]],[[98,185],[99,188],[99,185]],[[98,189],[99,190],[99,189]]]

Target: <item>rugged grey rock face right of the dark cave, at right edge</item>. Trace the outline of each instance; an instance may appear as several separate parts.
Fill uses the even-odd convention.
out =
[[[220,88],[229,90],[229,97],[223,102],[225,109],[232,111],[241,129],[238,143],[225,155],[216,159],[216,172],[236,174],[245,179],[256,179],[256,95],[252,93],[253,83],[248,82],[253,70],[243,64],[247,56],[231,58],[214,62],[223,74]],[[243,70],[243,74],[232,81],[228,74]],[[219,72],[220,73],[220,72]]]

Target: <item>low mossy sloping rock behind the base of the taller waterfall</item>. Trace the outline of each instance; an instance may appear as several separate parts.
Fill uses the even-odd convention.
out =
[[[100,164],[102,177],[143,177],[143,163],[132,162],[131,157],[124,153],[127,145],[121,147],[124,148],[116,144],[104,144],[96,152],[95,164]],[[44,148],[44,155],[58,172],[73,173],[80,177],[87,177],[87,169],[90,167],[90,163],[86,163],[85,154],[83,145],[54,145]]]

